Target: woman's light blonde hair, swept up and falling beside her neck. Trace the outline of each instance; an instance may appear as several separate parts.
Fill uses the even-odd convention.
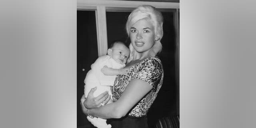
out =
[[[152,47],[152,51],[150,55],[156,56],[159,52],[162,50],[162,44],[160,40],[163,37],[163,16],[162,13],[156,10],[155,7],[150,5],[142,5],[138,6],[136,9],[134,9],[131,14],[128,17],[128,20],[126,22],[126,32],[128,36],[130,36],[130,28],[133,24],[135,24],[138,20],[147,19],[150,20],[153,23],[153,26],[155,27],[155,36],[156,36],[156,42],[154,46]],[[128,62],[133,60],[134,58],[134,48],[132,44],[129,46],[130,48],[130,58],[128,59]]]

